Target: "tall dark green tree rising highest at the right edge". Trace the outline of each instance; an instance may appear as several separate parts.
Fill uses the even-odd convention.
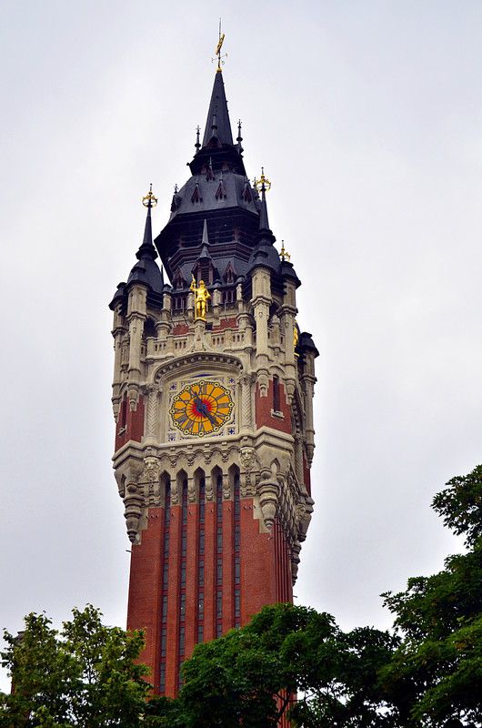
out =
[[[465,536],[467,552],[445,569],[387,592],[403,641],[381,672],[393,700],[405,699],[407,725],[482,725],[482,466],[449,480],[434,498],[444,523]]]

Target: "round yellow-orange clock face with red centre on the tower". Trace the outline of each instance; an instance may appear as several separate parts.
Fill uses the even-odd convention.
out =
[[[202,380],[187,384],[172,400],[169,411],[177,430],[202,438],[220,430],[233,407],[226,387],[218,381]]]

